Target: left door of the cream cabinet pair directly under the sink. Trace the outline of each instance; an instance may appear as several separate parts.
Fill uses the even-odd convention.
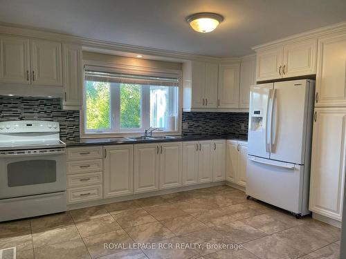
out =
[[[134,145],[134,193],[158,190],[158,144]]]

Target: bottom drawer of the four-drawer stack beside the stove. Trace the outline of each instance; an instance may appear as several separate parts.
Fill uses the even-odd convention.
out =
[[[85,187],[68,188],[67,203],[88,202],[90,200],[102,199],[102,184],[91,185]]]

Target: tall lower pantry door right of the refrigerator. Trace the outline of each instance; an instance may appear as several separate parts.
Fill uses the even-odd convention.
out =
[[[316,108],[309,209],[335,220],[343,212],[346,108]]]

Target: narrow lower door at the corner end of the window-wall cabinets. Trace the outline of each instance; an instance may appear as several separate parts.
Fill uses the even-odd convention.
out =
[[[212,154],[213,182],[226,180],[226,140],[215,140]]]

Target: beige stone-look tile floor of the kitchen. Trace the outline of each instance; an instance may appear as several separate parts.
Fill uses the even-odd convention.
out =
[[[128,249],[135,242],[153,244]],[[104,243],[122,246],[104,249]],[[175,247],[192,243],[200,247]],[[173,248],[162,249],[163,244]],[[0,223],[0,249],[14,246],[18,259],[331,259],[338,258],[340,230],[215,186]]]

